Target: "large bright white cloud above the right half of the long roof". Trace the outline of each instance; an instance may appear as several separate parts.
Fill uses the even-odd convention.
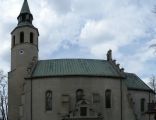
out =
[[[103,49],[106,44],[108,47],[116,46],[113,48],[117,50],[144,37],[149,27],[146,23],[146,15],[150,15],[150,13],[142,14],[141,11],[131,6],[118,8],[118,11],[115,11],[114,8],[112,14],[106,18],[87,21],[81,31],[80,44],[86,45],[90,49],[98,47],[98,45]]]

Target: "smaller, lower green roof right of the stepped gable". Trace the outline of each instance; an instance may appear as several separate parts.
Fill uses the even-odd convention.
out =
[[[126,74],[125,83],[128,89],[152,91],[152,89],[149,86],[147,86],[137,75],[133,73],[125,73],[125,74]]]

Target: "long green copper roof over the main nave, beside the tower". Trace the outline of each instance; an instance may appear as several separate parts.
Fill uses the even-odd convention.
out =
[[[65,75],[121,77],[108,61],[94,59],[41,60],[32,77]]]

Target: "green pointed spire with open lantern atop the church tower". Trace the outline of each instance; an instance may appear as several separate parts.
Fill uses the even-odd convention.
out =
[[[24,26],[24,25],[33,26],[32,25],[33,15],[30,12],[27,0],[24,0],[21,12],[17,17],[17,19],[18,19],[18,26]]]

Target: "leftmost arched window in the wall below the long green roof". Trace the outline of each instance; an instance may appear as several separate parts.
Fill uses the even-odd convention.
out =
[[[52,91],[48,90],[45,93],[45,109],[46,111],[52,111]]]

